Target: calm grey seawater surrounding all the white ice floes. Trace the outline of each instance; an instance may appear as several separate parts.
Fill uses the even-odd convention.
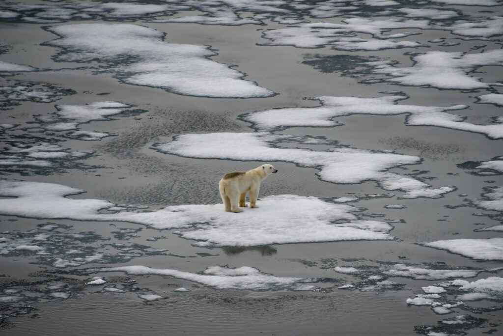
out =
[[[435,4],[432,7],[443,8]],[[470,15],[497,14],[494,7],[448,7]],[[486,10],[493,13],[484,14]],[[177,15],[196,15],[194,13],[180,12]],[[243,16],[246,16],[245,13]],[[340,23],[343,18],[310,19],[312,22]],[[230,27],[152,23],[143,19],[133,18],[127,23],[165,32],[166,42],[211,45],[218,53],[212,60],[236,65],[235,69],[247,74],[245,79],[256,81],[259,86],[278,95],[250,99],[203,98],[127,85],[111,73],[96,73],[100,66],[97,61],[55,62],[52,56],[61,50],[43,44],[56,38],[43,29],[46,25],[103,23],[108,20],[99,17],[52,24],[4,20],[0,22],[0,45],[7,46],[7,50],[0,54],[0,59],[44,70],[2,73],[2,86],[19,82],[50,83],[75,93],[58,95],[47,103],[27,100],[15,104],[7,100],[9,105],[2,109],[0,123],[22,126],[9,132],[3,131],[3,147],[13,143],[48,141],[72,151],[90,150],[94,153],[71,161],[71,164],[57,162],[51,168],[4,166],[2,178],[71,186],[86,193],[70,198],[104,199],[118,205],[138,206],[138,211],[144,207],[155,210],[169,205],[216,204],[221,201],[217,184],[223,174],[248,170],[263,162],[181,157],[160,153],[152,146],[187,133],[253,132],[254,129],[243,122],[240,115],[273,108],[317,106],[316,101],[303,98],[319,96],[370,98],[384,96],[381,92],[400,91],[409,97],[401,102],[403,104],[469,105],[469,109],[454,113],[466,116],[467,121],[473,123],[483,124],[490,117],[501,115],[500,107],[475,104],[474,97],[489,93],[488,90],[462,92],[403,87],[387,82],[362,82],[372,77],[369,69],[362,67],[362,58],[391,59],[400,61],[401,66],[410,66],[410,57],[404,55],[406,51],[469,51],[482,44],[488,49],[497,49],[500,48],[500,44],[494,42],[497,38],[492,41],[465,41],[445,31],[406,29],[421,33],[412,35],[409,40],[431,47],[349,52],[329,47],[302,49],[261,45],[266,42],[261,38],[264,30],[286,27],[270,20],[264,20],[264,26]],[[393,32],[398,31],[401,30]],[[459,42],[459,45],[428,43],[428,40],[439,37]],[[345,57],[342,65],[330,65],[338,59],[334,56],[339,55],[358,57]],[[323,57],[328,60],[313,61]],[[501,74],[499,66],[481,67],[475,73],[485,82],[501,80]],[[493,91],[497,92],[496,89]],[[35,126],[30,129],[30,125],[36,122],[35,116],[53,114],[56,104],[85,105],[101,101],[133,105],[133,109],[142,112],[119,114],[111,116],[110,121],[80,125],[82,130],[115,134],[101,141],[64,138],[57,133],[40,131]],[[0,300],[8,296],[17,297],[15,302],[7,299],[0,301],[0,334],[405,335],[444,332],[481,335],[501,332],[503,313],[500,297],[493,301],[466,302],[465,306],[452,308],[453,312],[449,314],[438,315],[430,306],[407,305],[406,300],[414,298],[415,294],[424,294],[421,290],[423,286],[447,280],[414,280],[383,273],[383,269],[394,264],[406,264],[418,268],[481,272],[476,278],[465,279],[468,281],[501,276],[501,271],[487,271],[501,267],[500,261],[477,261],[421,245],[436,240],[501,237],[500,232],[474,231],[500,224],[501,213],[473,205],[474,200],[482,198],[484,188],[503,183],[501,175],[472,174],[473,170],[462,164],[487,161],[501,155],[501,140],[440,127],[407,126],[404,124],[405,115],[352,115],[337,120],[343,125],[331,128],[295,127],[276,133],[321,136],[358,149],[393,150],[400,154],[417,155],[423,159],[421,163],[389,171],[415,175],[436,188],[453,186],[456,191],[439,199],[399,199],[402,192],[383,190],[374,181],[333,184],[321,181],[316,175],[319,170],[312,167],[300,167],[284,161],[271,162],[279,174],[264,181],[261,197],[280,194],[327,200],[359,197],[359,201],[351,203],[362,208],[356,213],[358,216],[393,225],[391,234],[396,239],[388,241],[204,248],[194,246],[193,240],[181,238],[173,232],[176,230],[157,230],[133,223],[0,216],[0,237],[33,242],[38,234],[49,235],[47,240],[40,242],[48,251],[46,255],[23,249],[0,255]],[[332,148],[331,145],[300,143],[278,146],[312,150]],[[382,195],[373,196],[379,194]],[[385,208],[393,204],[406,208]],[[45,225],[54,227],[44,229]],[[0,251],[2,244],[0,242]],[[75,258],[93,255],[103,257],[95,261],[75,261]],[[55,267],[58,259],[75,264]],[[313,284],[318,289],[219,290],[167,276],[96,270],[129,265],[191,273],[200,273],[212,266],[249,266],[277,277],[312,278],[313,282],[308,285]],[[356,275],[336,273],[333,271],[336,266],[356,267],[364,272]],[[86,284],[96,276],[103,277],[107,283],[98,286]],[[396,285],[369,288],[376,285],[376,281],[368,280],[369,276],[381,276]],[[354,288],[338,288],[346,284],[353,284]],[[174,291],[180,287],[190,291]],[[110,291],[110,288],[115,291]],[[455,302],[451,292],[448,301]],[[139,297],[144,294],[156,294],[163,299],[145,301]],[[439,322],[459,315],[469,315],[471,319],[462,325],[448,327]]]

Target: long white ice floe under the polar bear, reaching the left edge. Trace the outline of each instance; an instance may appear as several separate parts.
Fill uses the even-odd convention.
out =
[[[158,229],[189,228],[179,232],[199,246],[253,246],[339,240],[387,240],[391,225],[358,219],[350,205],[316,197],[275,195],[259,200],[260,209],[246,208],[239,217],[222,204],[169,206],[154,212],[100,213],[115,204],[96,199],[70,199],[82,190],[50,184],[0,180],[0,213],[34,218],[126,221]],[[333,224],[333,221],[344,221]],[[61,260],[59,264],[65,264]]]

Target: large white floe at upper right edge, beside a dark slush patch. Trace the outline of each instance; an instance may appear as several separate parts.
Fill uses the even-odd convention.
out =
[[[383,80],[408,86],[431,86],[440,89],[488,89],[497,83],[484,83],[470,76],[474,68],[483,65],[503,65],[503,50],[490,50],[478,54],[430,51],[412,57],[410,67],[396,67],[391,61],[372,61],[372,72],[391,76]],[[500,84],[498,84],[500,85]]]

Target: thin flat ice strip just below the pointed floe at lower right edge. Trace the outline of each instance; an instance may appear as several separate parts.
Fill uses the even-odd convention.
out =
[[[389,270],[383,272],[393,277],[405,277],[416,280],[445,280],[451,278],[472,278],[479,271],[471,270],[432,270],[418,267],[396,264]]]

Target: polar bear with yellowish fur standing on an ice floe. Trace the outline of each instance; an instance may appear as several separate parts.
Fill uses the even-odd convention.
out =
[[[259,196],[260,182],[274,173],[278,173],[278,170],[272,164],[263,164],[247,172],[225,174],[218,183],[225,211],[243,211],[238,208],[238,201],[240,207],[245,207],[244,199],[248,192],[250,208],[258,208],[257,197]]]

